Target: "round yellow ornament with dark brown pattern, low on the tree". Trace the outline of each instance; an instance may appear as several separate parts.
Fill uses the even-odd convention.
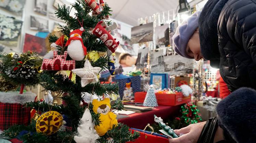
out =
[[[49,111],[42,114],[36,121],[36,131],[46,135],[51,135],[57,132],[63,122],[60,113],[56,111]]]

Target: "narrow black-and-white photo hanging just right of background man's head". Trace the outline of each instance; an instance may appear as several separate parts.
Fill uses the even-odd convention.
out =
[[[148,64],[148,52],[149,52],[149,48],[146,47],[144,49],[139,49],[138,51],[138,57],[137,57],[137,61],[136,61],[136,68],[144,68],[147,66]]]

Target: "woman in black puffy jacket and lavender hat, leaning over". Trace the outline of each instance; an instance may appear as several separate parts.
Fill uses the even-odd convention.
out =
[[[210,60],[232,92],[218,116],[174,130],[170,143],[256,143],[256,0],[208,0],[173,36],[183,57]],[[245,88],[246,87],[246,88]]]

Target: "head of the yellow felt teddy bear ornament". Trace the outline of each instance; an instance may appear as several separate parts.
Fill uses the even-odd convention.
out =
[[[98,101],[97,99],[93,100],[93,111],[95,113],[101,113],[107,115],[110,111],[110,99],[105,98],[104,100]]]

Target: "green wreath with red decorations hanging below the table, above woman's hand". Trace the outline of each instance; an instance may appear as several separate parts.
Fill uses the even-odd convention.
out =
[[[182,116],[187,125],[195,124],[202,121],[201,114],[197,106],[192,103],[186,103],[181,106]]]

